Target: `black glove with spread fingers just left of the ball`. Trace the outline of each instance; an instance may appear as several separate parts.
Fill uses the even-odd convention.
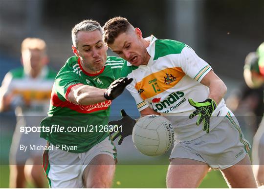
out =
[[[136,120],[132,119],[123,109],[121,110],[121,115],[122,115],[122,119],[108,122],[108,125],[112,125],[112,126],[122,125],[122,127],[118,127],[117,132],[114,131],[110,132],[110,134],[115,133],[111,136],[112,140],[115,140],[117,137],[121,136],[118,141],[118,145],[122,144],[122,141],[125,137],[132,134],[133,127],[136,123]]]

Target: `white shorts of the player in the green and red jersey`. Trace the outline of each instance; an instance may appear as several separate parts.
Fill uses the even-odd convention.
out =
[[[43,168],[49,187],[84,188],[83,171],[99,154],[108,154],[116,161],[116,148],[109,137],[84,153],[55,150],[55,147],[53,150],[44,151]]]

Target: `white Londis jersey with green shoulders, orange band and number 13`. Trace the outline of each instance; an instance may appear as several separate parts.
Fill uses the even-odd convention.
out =
[[[134,97],[139,111],[150,106],[168,118],[175,129],[176,140],[190,141],[205,134],[202,126],[196,126],[197,117],[189,119],[196,109],[188,98],[204,101],[209,88],[200,81],[212,69],[198,57],[188,45],[169,39],[147,38],[150,60],[148,65],[138,67],[124,64],[121,76],[133,78],[127,89]],[[228,109],[222,99],[213,112],[210,130],[215,128]]]

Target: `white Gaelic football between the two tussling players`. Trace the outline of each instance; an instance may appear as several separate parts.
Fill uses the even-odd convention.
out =
[[[147,115],[136,122],[132,140],[138,151],[149,156],[164,154],[174,141],[171,122],[160,115]]]

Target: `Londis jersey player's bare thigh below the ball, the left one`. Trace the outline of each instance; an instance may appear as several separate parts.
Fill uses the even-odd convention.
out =
[[[173,158],[167,172],[168,188],[197,188],[209,170],[201,161]]]

